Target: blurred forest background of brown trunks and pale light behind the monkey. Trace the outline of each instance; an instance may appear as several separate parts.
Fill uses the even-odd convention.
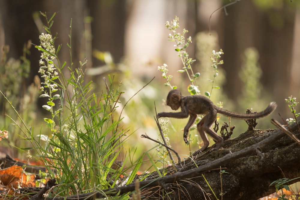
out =
[[[223,7],[227,4],[231,5]],[[101,92],[102,78],[108,74],[122,81],[120,90],[125,93],[120,109],[155,76],[128,102],[122,113],[122,123],[133,133],[128,146],[147,151],[155,143],[140,139],[140,135],[146,133],[156,139],[159,134],[154,121],[154,102],[158,112],[171,111],[164,106],[170,87],[164,86],[165,80],[157,67],[166,63],[168,74],[173,75],[172,84],[188,95],[189,81],[185,74],[176,72],[183,66],[174,51],[174,43],[168,41],[170,31],[164,26],[166,21],[178,16],[180,31],[182,28],[189,31],[186,36],[192,38],[192,43],[187,50],[190,57],[196,59],[192,65],[194,72],[201,73],[197,80],[201,94],[211,88],[207,81],[213,77],[211,52],[223,49],[224,64],[219,67],[216,82],[221,89],[214,91],[212,100],[221,101],[224,108],[236,112],[245,112],[247,108],[260,111],[270,101],[276,101],[278,108],[272,117],[281,120],[278,113],[284,119],[292,117],[285,99],[291,95],[300,98],[299,6],[298,1],[289,0],[3,0],[0,1],[0,47],[8,45],[7,58],[19,59],[28,40],[39,45],[38,36],[44,31],[45,23],[40,11],[49,17],[56,12],[52,32],[58,33],[56,43],[62,44],[61,61],[70,65],[66,44],[70,41],[72,19],[73,63],[79,65],[79,60],[87,58],[85,78],[94,81],[96,92]],[[18,88],[21,98],[38,75],[40,52],[34,46],[29,51],[29,76],[15,77],[16,81],[22,79]],[[0,58],[3,55],[1,51]],[[255,71],[243,68],[249,65],[256,67]],[[3,83],[0,87],[7,90]],[[3,101],[1,97],[1,105]],[[36,105],[33,125],[45,114],[41,109],[43,102],[38,100]],[[3,119],[3,106],[0,112]],[[256,128],[274,128],[269,120],[270,117],[259,120]],[[170,122],[173,148],[188,154],[189,147],[184,146],[181,130],[187,119]],[[235,134],[247,130],[243,121],[232,120],[232,125],[236,125]],[[2,120],[0,128],[10,129],[10,124]],[[18,146],[19,141],[13,137],[8,143]],[[195,138],[193,151],[198,148],[196,142]]]

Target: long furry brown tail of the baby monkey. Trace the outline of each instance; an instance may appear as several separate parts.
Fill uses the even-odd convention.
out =
[[[216,107],[217,112],[225,115],[227,117],[231,117],[231,118],[243,118],[243,119],[256,119],[256,118],[262,118],[262,117],[266,117],[268,115],[270,115],[277,107],[277,103],[276,102],[271,102],[268,107],[266,109],[264,109],[261,112],[257,112],[257,113],[236,113],[236,112],[231,112],[229,110],[223,109],[223,108],[219,108]]]

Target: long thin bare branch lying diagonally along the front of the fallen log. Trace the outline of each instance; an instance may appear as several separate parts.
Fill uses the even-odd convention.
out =
[[[300,122],[300,120],[299,120]],[[296,130],[297,124],[294,123],[290,126],[291,130]],[[197,168],[194,169],[190,169],[187,171],[179,171],[176,172],[172,175],[168,175],[168,176],[164,176],[161,178],[157,178],[154,180],[145,180],[145,181],[141,181],[140,182],[140,188],[144,188],[144,187],[155,187],[158,185],[161,185],[162,183],[167,184],[167,183],[175,183],[176,181],[182,180],[182,179],[187,179],[187,178],[193,178],[193,177],[197,177],[200,176],[201,174],[210,171],[211,169],[217,169],[222,165],[226,165],[228,163],[231,163],[234,160],[237,160],[239,158],[245,157],[246,155],[252,153],[252,152],[259,152],[259,149],[262,149],[268,145],[270,145],[273,142],[276,142],[278,139],[280,139],[281,137],[285,136],[285,133],[283,133],[282,130],[278,130],[276,133],[272,134],[271,136],[269,136],[268,138],[254,144],[251,145],[247,148],[242,149],[241,151],[237,151],[234,153],[229,153],[226,154],[225,156],[223,156],[222,158],[219,158],[217,160],[213,160],[208,164],[199,166]],[[79,195],[73,195],[73,196],[68,196],[68,197],[55,197],[55,198],[47,198],[47,200],[75,200],[75,199],[92,199],[92,198],[104,198],[107,196],[114,196],[116,194],[118,195],[122,195],[128,192],[132,192],[135,190],[135,183],[131,183],[125,186],[121,186],[121,187],[115,187],[115,188],[110,188],[107,190],[103,190],[101,193],[98,192],[94,192],[94,193],[84,193],[84,194],[79,194]],[[94,196],[93,196],[94,195]],[[91,198],[89,198],[88,196],[92,196]]]

